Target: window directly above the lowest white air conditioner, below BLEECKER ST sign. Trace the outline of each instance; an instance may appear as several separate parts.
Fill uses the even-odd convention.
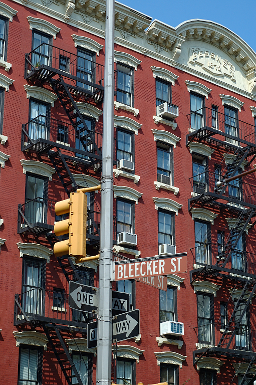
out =
[[[167,291],[159,290],[160,323],[177,321],[176,302],[176,288],[167,286]]]

